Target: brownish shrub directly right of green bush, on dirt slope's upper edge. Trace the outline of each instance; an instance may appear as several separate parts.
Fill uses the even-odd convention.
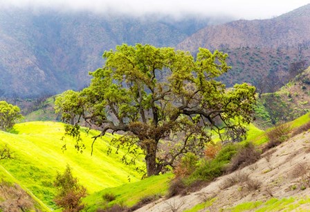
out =
[[[255,163],[258,159],[260,159],[260,153],[256,150],[253,143],[246,143],[244,148],[241,148],[231,159],[226,170],[228,173],[232,173],[238,168],[244,168],[245,166]]]

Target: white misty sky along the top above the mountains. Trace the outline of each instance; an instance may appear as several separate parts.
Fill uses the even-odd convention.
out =
[[[235,19],[268,19],[282,15],[310,0],[0,0],[1,6],[53,8],[57,10],[87,10],[118,12],[131,15],[163,14],[231,16]]]

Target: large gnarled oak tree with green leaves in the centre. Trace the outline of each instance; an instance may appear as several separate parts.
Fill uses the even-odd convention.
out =
[[[203,152],[215,134],[221,141],[245,135],[253,121],[255,87],[226,89],[217,81],[230,69],[227,57],[206,48],[193,57],[174,48],[122,44],[104,52],[105,64],[90,73],[89,87],[60,96],[56,108],[75,126],[84,118],[101,130],[98,136],[125,132],[116,140],[142,149],[147,175],[156,175],[185,152]],[[76,100],[66,101],[73,96]]]

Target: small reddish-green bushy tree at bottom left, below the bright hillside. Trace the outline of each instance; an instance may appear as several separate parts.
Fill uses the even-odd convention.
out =
[[[84,209],[82,198],[86,197],[86,188],[78,184],[78,178],[73,177],[70,166],[66,166],[63,174],[57,173],[54,186],[57,195],[54,199],[57,206],[65,212],[75,212]]]

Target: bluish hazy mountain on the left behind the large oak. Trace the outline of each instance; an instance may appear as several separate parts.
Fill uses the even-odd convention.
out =
[[[176,46],[210,19],[111,17],[86,12],[0,9],[0,97],[82,89],[116,45]]]

